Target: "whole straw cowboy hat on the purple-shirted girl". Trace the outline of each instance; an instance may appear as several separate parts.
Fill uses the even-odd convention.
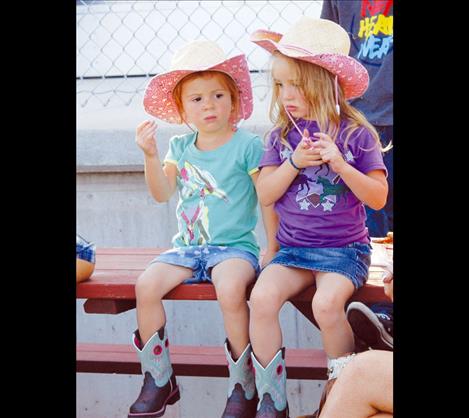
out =
[[[330,71],[337,76],[346,99],[359,97],[368,88],[368,71],[348,55],[350,38],[335,22],[303,16],[284,35],[257,30],[250,40],[271,54],[279,51]]]

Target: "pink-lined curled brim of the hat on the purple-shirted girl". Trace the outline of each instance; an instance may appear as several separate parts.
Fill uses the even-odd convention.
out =
[[[287,57],[300,59],[325,68],[334,75],[338,81],[346,99],[362,96],[368,88],[370,78],[366,68],[355,58],[343,54],[304,54],[298,49],[288,48],[288,45],[280,43],[282,35],[276,32],[257,30],[250,40],[273,54],[279,51]]]

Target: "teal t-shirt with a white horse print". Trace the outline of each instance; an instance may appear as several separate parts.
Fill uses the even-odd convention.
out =
[[[259,136],[238,129],[222,146],[201,151],[197,133],[174,136],[165,164],[178,168],[178,233],[174,247],[220,245],[259,257],[254,232],[257,194],[251,175],[259,170],[263,143]]]

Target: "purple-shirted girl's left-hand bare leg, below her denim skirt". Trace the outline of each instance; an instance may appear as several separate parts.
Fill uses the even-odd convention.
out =
[[[280,309],[288,299],[313,283],[313,272],[279,264],[271,264],[261,273],[250,298],[249,335],[254,354],[263,367],[282,347]]]

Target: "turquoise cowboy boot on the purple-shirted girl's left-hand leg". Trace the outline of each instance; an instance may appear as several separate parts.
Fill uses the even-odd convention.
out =
[[[266,368],[251,353],[259,397],[255,418],[289,418],[285,348],[281,348]]]

